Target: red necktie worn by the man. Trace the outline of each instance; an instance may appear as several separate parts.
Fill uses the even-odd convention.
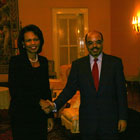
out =
[[[99,70],[98,70],[97,61],[98,61],[98,59],[95,58],[94,59],[94,65],[93,65],[93,68],[92,68],[92,77],[93,77],[93,80],[94,80],[94,85],[95,85],[96,91],[98,90],[98,86],[99,86]]]

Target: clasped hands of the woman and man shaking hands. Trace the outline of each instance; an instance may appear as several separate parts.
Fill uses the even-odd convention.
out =
[[[55,110],[55,104],[51,102],[50,100],[43,100],[41,99],[39,102],[41,109],[44,110],[46,114],[49,114],[52,112],[52,110]]]

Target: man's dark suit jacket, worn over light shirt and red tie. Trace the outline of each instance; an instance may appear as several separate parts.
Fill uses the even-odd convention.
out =
[[[99,88],[96,92],[89,56],[72,63],[67,84],[55,100],[60,109],[80,90],[79,125],[81,133],[97,127],[117,130],[118,120],[127,119],[127,97],[123,65],[120,58],[103,54]]]

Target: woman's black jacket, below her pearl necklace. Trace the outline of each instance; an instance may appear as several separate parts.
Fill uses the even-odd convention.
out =
[[[40,67],[33,68],[27,56],[13,56],[9,64],[10,114],[13,117],[35,118],[44,113],[40,99],[51,100],[48,60],[38,56]],[[45,113],[44,113],[45,115]],[[39,116],[38,116],[39,117]]]

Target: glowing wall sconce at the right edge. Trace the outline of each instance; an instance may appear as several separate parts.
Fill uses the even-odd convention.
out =
[[[133,24],[133,29],[136,32],[140,32],[140,17],[133,16],[132,24]]]

